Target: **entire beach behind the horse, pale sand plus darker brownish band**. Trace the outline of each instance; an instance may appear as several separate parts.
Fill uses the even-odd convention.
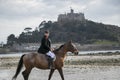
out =
[[[19,58],[0,58],[0,80],[12,79]],[[65,80],[120,80],[120,55],[67,56],[63,72]],[[29,80],[47,80],[48,75],[49,70],[34,68]],[[21,73],[18,75],[17,80],[23,80]],[[57,71],[55,71],[51,80],[61,80]]]

